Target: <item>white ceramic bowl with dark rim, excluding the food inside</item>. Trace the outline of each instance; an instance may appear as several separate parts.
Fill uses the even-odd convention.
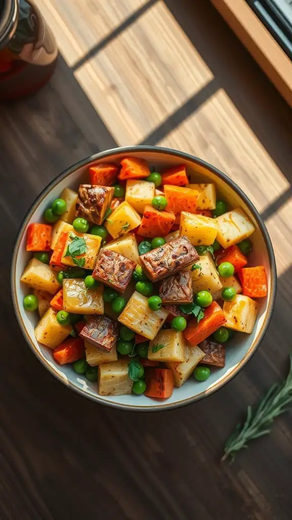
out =
[[[158,171],[166,166],[184,164],[193,182],[215,183],[217,193],[220,193],[233,207],[241,206],[253,220],[256,231],[252,236],[254,248],[250,255],[249,265],[263,265],[268,276],[268,297],[259,299],[259,314],[254,331],[252,334],[235,334],[227,349],[225,367],[213,370],[205,382],[199,383],[194,378],[190,378],[181,388],[175,388],[169,399],[162,401],[136,395],[98,395],[96,383],[89,383],[84,376],[76,374],[71,366],[58,365],[52,358],[51,349],[37,343],[34,336],[36,313],[26,312],[22,305],[23,297],[28,293],[28,289],[20,282],[20,276],[31,257],[31,253],[25,251],[25,235],[28,225],[42,220],[45,209],[60,195],[63,188],[76,189],[80,183],[88,183],[89,165],[104,161],[118,163],[125,156],[145,159]],[[243,191],[231,179],[214,166],[187,153],[167,148],[136,146],[117,148],[92,155],[71,166],[44,189],[31,206],[18,232],[12,258],[11,287],[15,313],[26,341],[43,365],[60,381],[84,397],[108,406],[127,410],[153,411],[175,408],[202,399],[221,388],[244,367],[259,346],[271,318],[276,293],[276,267],[271,240],[260,215]]]

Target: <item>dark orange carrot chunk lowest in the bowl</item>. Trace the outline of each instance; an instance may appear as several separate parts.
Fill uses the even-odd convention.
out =
[[[147,397],[167,399],[174,391],[174,376],[168,368],[151,368],[146,375]]]

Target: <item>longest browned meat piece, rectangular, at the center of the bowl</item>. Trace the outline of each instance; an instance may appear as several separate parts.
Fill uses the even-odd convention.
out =
[[[198,260],[198,254],[187,237],[169,240],[160,248],[140,256],[145,275],[153,282],[175,275]]]

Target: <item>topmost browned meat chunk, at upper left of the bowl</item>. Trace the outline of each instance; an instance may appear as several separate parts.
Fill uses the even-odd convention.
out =
[[[102,224],[105,213],[110,208],[114,188],[81,184],[78,189],[76,216],[94,224]]]

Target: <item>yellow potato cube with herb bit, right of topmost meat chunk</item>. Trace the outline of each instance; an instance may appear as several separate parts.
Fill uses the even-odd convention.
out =
[[[140,226],[141,217],[127,201],[122,202],[117,208],[105,219],[105,227],[113,238],[125,235],[131,229]]]

